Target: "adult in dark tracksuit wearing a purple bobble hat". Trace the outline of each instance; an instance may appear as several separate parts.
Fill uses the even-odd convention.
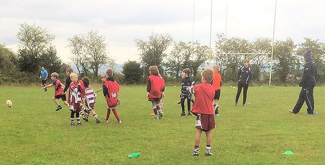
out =
[[[316,85],[317,68],[315,62],[311,59],[311,50],[307,50],[303,53],[306,60],[304,73],[301,78],[299,87],[301,88],[298,101],[293,110],[289,110],[290,113],[298,114],[304,102],[307,104],[308,114],[318,114],[314,111],[314,87]]]

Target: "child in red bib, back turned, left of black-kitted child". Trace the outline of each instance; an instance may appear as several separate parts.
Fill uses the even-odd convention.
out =
[[[163,118],[164,115],[159,106],[159,101],[165,95],[165,81],[159,76],[157,66],[150,66],[149,73],[150,76],[147,80],[147,97],[148,101],[151,101],[152,103],[152,109],[155,115],[154,120],[157,120]]]

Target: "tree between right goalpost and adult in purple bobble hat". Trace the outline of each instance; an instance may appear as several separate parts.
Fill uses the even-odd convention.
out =
[[[276,41],[274,44],[274,72],[280,82],[285,82],[288,74],[293,73],[297,66],[295,56],[296,45],[294,41],[287,38],[286,41]]]

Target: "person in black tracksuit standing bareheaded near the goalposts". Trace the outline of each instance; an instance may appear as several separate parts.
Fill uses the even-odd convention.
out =
[[[244,66],[241,67],[238,71],[238,90],[237,90],[237,95],[236,95],[236,100],[235,100],[235,106],[238,103],[238,99],[240,96],[240,93],[242,92],[242,88],[244,88],[243,92],[243,106],[245,106],[246,103],[246,97],[247,97],[247,89],[248,89],[248,82],[252,79],[253,70],[249,66],[249,60],[244,61]]]

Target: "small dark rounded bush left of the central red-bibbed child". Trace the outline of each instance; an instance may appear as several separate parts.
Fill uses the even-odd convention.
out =
[[[136,61],[125,62],[122,73],[124,74],[126,84],[136,84],[141,81],[142,70],[140,64]]]

